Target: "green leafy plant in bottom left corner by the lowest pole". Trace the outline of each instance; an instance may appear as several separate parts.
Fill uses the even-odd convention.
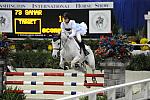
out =
[[[25,94],[20,94],[20,93],[13,93],[13,92],[9,92],[9,91],[15,91],[15,90],[20,90],[19,88],[15,87],[7,87],[5,89],[8,92],[4,92],[2,94],[2,99],[1,100],[25,100],[26,96]]]

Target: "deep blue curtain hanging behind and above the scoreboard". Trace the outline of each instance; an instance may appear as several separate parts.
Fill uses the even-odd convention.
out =
[[[114,2],[114,16],[124,32],[137,32],[146,25],[144,14],[150,0],[0,0],[1,2]]]

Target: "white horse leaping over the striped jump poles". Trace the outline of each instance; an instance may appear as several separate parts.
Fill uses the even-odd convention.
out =
[[[64,69],[64,63],[71,63],[71,68],[87,73],[85,66],[89,66],[94,74],[95,71],[95,58],[91,48],[85,45],[85,48],[90,53],[85,56],[83,50],[80,50],[79,45],[74,38],[68,38],[68,33],[61,34],[59,39],[52,39],[53,57],[58,57],[60,51],[60,64],[59,66]],[[78,66],[77,66],[78,65]],[[96,78],[92,77],[92,81],[96,82]],[[87,82],[85,77],[85,82]]]

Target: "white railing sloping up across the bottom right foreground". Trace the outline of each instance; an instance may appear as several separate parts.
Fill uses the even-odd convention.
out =
[[[83,96],[88,96],[88,100],[96,100],[97,93],[106,92],[106,91],[109,93],[109,96],[107,97],[108,100],[148,100],[148,98],[150,98],[149,82],[150,82],[150,79],[144,79],[144,80],[140,80],[140,81],[110,86],[110,87],[90,91],[90,92],[83,93],[83,94],[77,94],[77,95],[73,95],[73,96],[69,96],[69,97],[64,97],[64,98],[57,99],[57,100],[79,100],[79,98],[83,97]],[[133,86],[137,85],[137,84],[141,84],[141,92],[138,95],[133,94]],[[125,97],[116,99],[115,91],[116,91],[116,89],[122,88],[122,87],[125,88]]]

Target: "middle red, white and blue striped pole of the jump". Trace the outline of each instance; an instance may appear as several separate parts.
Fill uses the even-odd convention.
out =
[[[77,82],[36,82],[36,81],[4,81],[6,85],[58,85],[58,86],[96,86],[103,87],[104,83],[77,83]]]

